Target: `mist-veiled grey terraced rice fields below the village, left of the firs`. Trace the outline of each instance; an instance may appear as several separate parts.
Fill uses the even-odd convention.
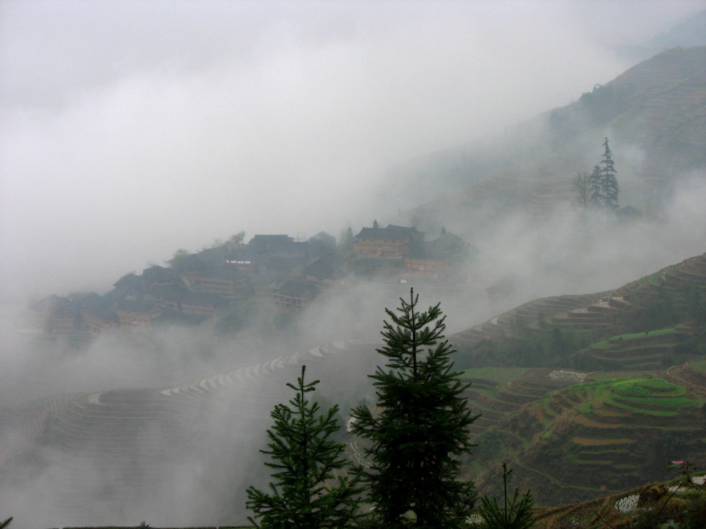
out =
[[[140,507],[191,494],[192,486],[198,490],[198,480],[191,485],[178,478],[193,466],[208,468],[212,494],[222,494],[219,483],[259,460],[269,413],[291,398],[285,384],[302,364],[324,381],[319,394],[356,394],[378,360],[375,346],[340,341],[175,387],[69,394],[0,408],[0,497],[21,476],[51,469],[52,480],[61,482],[53,491],[56,523],[68,525],[95,523],[96,513],[124,516],[126,509],[139,519]],[[345,361],[352,356],[355,362]],[[246,452],[234,458],[230,451],[239,447]]]

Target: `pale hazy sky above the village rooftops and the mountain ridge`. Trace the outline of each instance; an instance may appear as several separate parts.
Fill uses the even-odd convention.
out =
[[[610,45],[705,7],[3,0],[0,295],[359,229],[391,164],[568,104],[631,66]]]

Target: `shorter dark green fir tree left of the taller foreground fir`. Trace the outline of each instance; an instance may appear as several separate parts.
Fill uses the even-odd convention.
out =
[[[304,383],[306,366],[301,367],[294,399],[277,404],[270,413],[274,419],[268,450],[272,461],[265,466],[275,470],[271,493],[248,487],[246,506],[261,518],[256,527],[273,529],[338,529],[353,527],[357,518],[357,497],[361,492],[359,473],[347,461],[345,444],[332,439],[340,429],[335,420],[338,406],[321,415],[318,403],[309,403],[306,394],[316,390],[318,380]],[[351,471],[351,476],[342,475]]]

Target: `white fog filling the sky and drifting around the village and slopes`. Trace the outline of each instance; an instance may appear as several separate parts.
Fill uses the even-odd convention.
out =
[[[621,47],[638,46],[702,7],[4,1],[0,405],[179,387],[323,343],[374,344],[384,308],[397,306],[410,286],[349,278],[286,329],[162,327],[131,339],[107,332],[80,346],[22,332],[35,300],[103,294],[131,270],[164,265],[177,248],[196,251],[241,230],[246,240],[256,233],[338,237],[373,219],[409,226],[419,217],[433,238],[443,226],[469,245],[469,258],[455,283],[415,288],[422,305],[441,301],[449,334],[527,300],[610,291],[704,253],[700,173],[680,175],[659,209],[616,224],[569,200],[541,219],[490,202],[461,205],[449,197],[493,174],[474,174],[473,181],[434,175],[426,157],[443,159],[468,142],[501,142],[516,123],[570,104],[633,66]],[[606,32],[606,18],[616,30]],[[598,161],[603,135],[612,131],[599,132],[594,145],[576,153],[587,163],[577,171]],[[635,176],[644,162],[640,147],[612,147],[623,204],[644,207]],[[425,217],[420,212],[430,204],[437,207]],[[491,303],[486,288],[505,276],[519,277],[521,291]],[[322,370],[330,374],[341,362]],[[351,357],[344,368],[358,373],[370,365],[367,357]],[[352,406],[347,388],[329,384],[322,392]],[[257,413],[234,413],[217,399],[189,408],[194,417],[184,429],[209,432],[203,449],[178,463],[169,459],[156,485],[136,491],[129,507],[96,501],[90,516],[76,521],[61,494],[54,496],[64,455],[37,446],[28,451],[30,470],[2,488],[0,520],[15,516],[20,529],[245,523],[241,492],[266,478],[256,454],[270,400],[287,395],[279,389],[285,392],[268,387],[273,392],[253,404]],[[249,402],[253,391],[242,389],[237,399]],[[163,439],[159,427],[140,442]],[[11,452],[26,433],[3,432],[0,452]],[[87,472],[103,485],[121,479],[98,467]]]

